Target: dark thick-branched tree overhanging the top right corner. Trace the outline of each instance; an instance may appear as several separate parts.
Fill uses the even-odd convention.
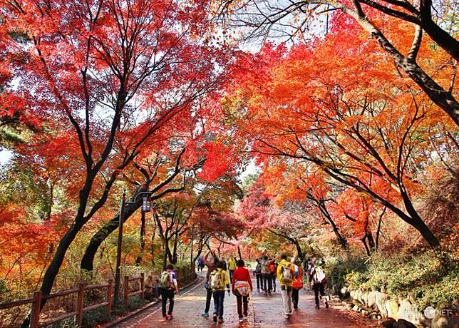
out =
[[[351,21],[360,26],[371,38],[378,43],[386,55],[391,58],[398,69],[406,73],[424,93],[443,109],[448,116],[459,125],[459,103],[454,95],[455,65],[459,59],[459,41],[455,39],[454,20],[448,26],[440,26],[442,21],[448,21],[449,15],[457,14],[457,8],[452,1],[372,1],[372,0],[307,0],[307,1],[217,1],[217,14],[222,16],[223,24],[242,27],[248,30],[249,39],[283,36],[284,39],[298,36],[309,39],[316,31],[316,26],[326,22],[329,28],[329,12],[335,11],[330,20],[333,29],[354,29],[348,24],[336,24],[339,21]],[[434,8],[434,5],[439,8]],[[342,19],[341,13],[347,16]],[[326,16],[325,16],[326,15]],[[434,18],[438,15],[438,18]],[[388,30],[388,24],[405,26],[411,31],[411,40],[402,40]],[[450,81],[436,78],[434,72],[429,72],[432,53],[420,53],[423,32],[428,34],[431,41],[440,46],[450,57],[442,65],[450,66]],[[344,46],[346,43],[340,43]],[[358,49],[358,45],[354,49]],[[368,61],[363,55],[362,61]],[[377,60],[383,60],[378,56]]]

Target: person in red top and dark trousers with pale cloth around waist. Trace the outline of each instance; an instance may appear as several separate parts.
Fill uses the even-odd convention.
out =
[[[244,322],[247,319],[249,309],[249,292],[252,292],[252,279],[250,272],[244,267],[243,260],[237,260],[237,268],[232,275],[232,293],[236,295],[237,314],[239,314],[239,322]],[[244,305],[244,310],[242,310]]]

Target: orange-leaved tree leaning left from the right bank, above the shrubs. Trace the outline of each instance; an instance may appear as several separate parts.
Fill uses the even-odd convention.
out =
[[[241,73],[244,78],[234,84],[224,106],[232,108],[229,113],[242,138],[250,140],[262,162],[280,157],[314,163],[337,183],[368,195],[415,227],[431,247],[439,247],[413,197],[422,189],[417,165],[424,159],[428,126],[442,118],[390,62],[361,66],[360,52],[372,49],[377,56],[373,43],[359,53],[348,52],[337,48],[343,43],[334,38],[341,37],[336,31],[314,50],[298,46],[279,54],[282,48],[267,47],[257,55],[264,64],[252,65],[254,75]]]

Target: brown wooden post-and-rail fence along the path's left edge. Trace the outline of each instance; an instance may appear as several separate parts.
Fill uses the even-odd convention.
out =
[[[130,283],[138,282],[138,290],[131,292]],[[145,288],[144,288],[144,275],[143,273],[140,274],[140,277],[130,278],[128,276],[124,277],[124,284],[123,284],[123,302],[125,309],[128,308],[128,301],[130,296],[140,295],[140,297],[144,297]],[[94,292],[97,289],[104,289],[106,288],[105,292],[105,299],[104,302],[99,302],[96,304],[91,304],[85,307],[85,292]],[[75,300],[75,307],[73,308],[72,312],[67,312],[65,314],[58,315],[52,319],[46,319],[41,321],[40,316],[40,307],[41,302],[46,299],[56,299],[58,297],[66,297],[68,295],[74,295]],[[83,314],[91,309],[97,309],[99,307],[105,307],[105,311],[110,314],[112,311],[112,301],[113,301],[113,280],[108,280],[105,284],[100,285],[86,285],[83,282],[78,284],[77,288],[73,289],[66,289],[60,292],[56,292],[49,295],[42,295],[41,291],[34,292],[33,297],[28,299],[18,299],[12,302],[4,302],[0,303],[0,309],[11,309],[13,307],[19,307],[24,304],[31,304],[31,328],[38,328],[38,327],[46,327],[50,324],[54,324],[56,322],[60,322],[63,319],[67,319],[70,317],[75,317],[75,324],[81,326],[83,320]]]

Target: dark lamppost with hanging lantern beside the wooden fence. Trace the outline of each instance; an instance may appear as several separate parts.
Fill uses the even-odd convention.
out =
[[[120,300],[120,280],[121,280],[121,246],[123,245],[123,223],[124,223],[124,207],[125,205],[135,205],[137,203],[138,197],[143,196],[142,200],[142,212],[150,212],[151,210],[151,201],[150,191],[143,191],[135,195],[133,202],[126,202],[126,192],[123,192],[123,198],[120,202],[120,217],[118,222],[118,245],[116,249],[116,271],[115,271],[115,294],[113,305],[115,309],[118,309],[118,302]]]

